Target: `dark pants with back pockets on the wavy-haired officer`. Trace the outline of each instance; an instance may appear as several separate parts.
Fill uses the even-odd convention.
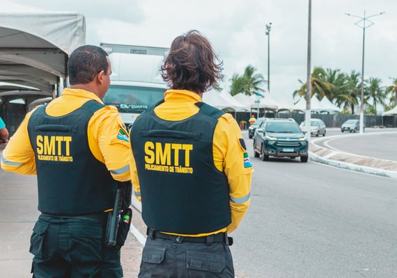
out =
[[[150,238],[143,247],[139,278],[234,278],[231,251],[225,243],[189,243]]]

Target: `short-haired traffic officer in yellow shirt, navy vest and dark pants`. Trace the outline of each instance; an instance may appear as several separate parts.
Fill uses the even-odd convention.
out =
[[[123,277],[120,246],[104,244],[118,181],[130,180],[125,126],[116,108],[102,102],[109,57],[100,47],[79,47],[68,73],[70,88],[26,115],[1,167],[37,174],[33,277]]]

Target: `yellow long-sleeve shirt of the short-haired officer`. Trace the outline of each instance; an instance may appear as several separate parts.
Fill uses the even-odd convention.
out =
[[[91,99],[103,104],[92,92],[66,88],[61,97],[47,105],[45,111],[50,116],[59,117],[75,111]],[[4,149],[1,156],[3,170],[18,174],[36,174],[35,155],[27,129],[32,113],[33,111],[26,115]],[[105,106],[96,111],[88,122],[88,145],[93,156],[106,165],[114,179],[128,181],[130,143],[127,137],[120,139],[120,129],[127,133],[116,107]]]

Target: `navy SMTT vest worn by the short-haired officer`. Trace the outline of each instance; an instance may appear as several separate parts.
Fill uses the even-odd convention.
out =
[[[31,115],[28,132],[36,156],[42,213],[86,215],[113,206],[116,181],[88,146],[88,122],[103,107],[91,100],[61,117],[47,115],[45,106]]]

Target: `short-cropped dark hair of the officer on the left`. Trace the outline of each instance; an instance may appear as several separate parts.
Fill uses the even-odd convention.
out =
[[[94,45],[84,45],[75,49],[68,60],[70,85],[90,83],[101,70],[107,74],[107,56],[106,51]]]

